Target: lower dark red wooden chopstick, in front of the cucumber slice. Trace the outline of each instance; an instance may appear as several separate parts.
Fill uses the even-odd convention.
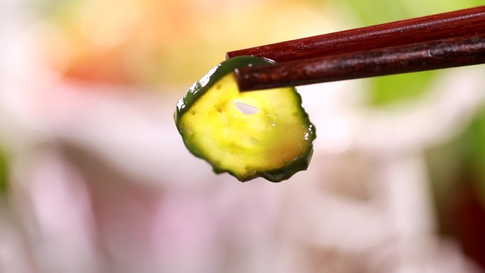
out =
[[[485,63],[485,34],[236,69],[241,91]]]

